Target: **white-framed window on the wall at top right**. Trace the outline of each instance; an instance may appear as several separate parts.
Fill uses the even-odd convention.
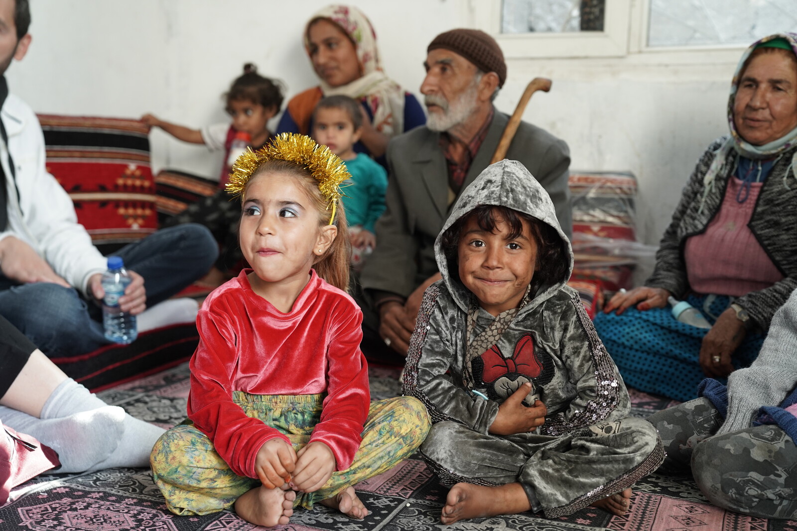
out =
[[[797,32],[797,0],[470,0],[508,59],[743,48]]]

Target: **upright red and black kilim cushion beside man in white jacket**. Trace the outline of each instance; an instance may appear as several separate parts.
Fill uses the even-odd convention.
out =
[[[47,170],[75,203],[77,219],[109,254],[155,232],[155,182],[147,127],[138,120],[39,115]]]

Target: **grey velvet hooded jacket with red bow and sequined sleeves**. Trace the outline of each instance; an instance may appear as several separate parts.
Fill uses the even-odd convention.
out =
[[[487,352],[482,354],[485,363],[505,363],[506,369],[499,369],[505,372],[499,379],[503,384],[493,378],[495,370],[485,381],[487,373],[478,371],[476,368],[481,365],[474,363],[473,388],[469,388],[463,371],[469,361],[465,337],[473,295],[458,279],[452,279],[442,235],[478,205],[503,205],[556,228],[567,249],[569,264],[566,278],[540,287],[518,310],[496,347],[489,349],[493,350],[490,361],[486,361]],[[518,379],[532,381],[548,408],[545,424],[537,431],[540,435],[561,435],[628,415],[630,400],[622,378],[595,333],[578,293],[566,285],[573,267],[570,242],[556,221],[548,193],[520,162],[503,160],[489,166],[461,193],[435,241],[435,256],[442,279],[424,295],[404,377],[404,393],[421,400],[433,422],[454,420],[487,433],[503,401],[501,392],[496,394],[497,386],[512,388],[512,382]],[[480,309],[474,336],[492,321],[492,315]],[[496,353],[505,361],[498,359]],[[485,400],[473,390],[493,400]]]

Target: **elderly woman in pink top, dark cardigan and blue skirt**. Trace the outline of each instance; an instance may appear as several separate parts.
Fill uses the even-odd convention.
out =
[[[626,385],[677,400],[697,396],[706,376],[750,365],[797,287],[797,34],[744,53],[728,123],[731,135],[709,146],[685,186],[653,275],[595,318]],[[670,295],[711,328],[673,318]]]

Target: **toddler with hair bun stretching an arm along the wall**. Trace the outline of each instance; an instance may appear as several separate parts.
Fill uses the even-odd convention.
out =
[[[232,118],[232,123],[214,123],[201,129],[191,129],[151,114],[141,117],[143,123],[150,127],[160,127],[175,139],[205,144],[209,150],[224,152],[218,192],[190,205],[183,213],[171,217],[162,224],[164,227],[171,227],[183,223],[198,223],[213,232],[220,252],[214,269],[204,279],[213,286],[218,286],[226,280],[227,271],[235,271],[241,260],[237,232],[241,204],[238,201],[230,201],[224,189],[230,174],[230,167],[227,164],[230,148],[236,135],[241,133],[249,136],[249,146],[254,149],[264,146],[271,138],[269,119],[280,111],[283,100],[279,81],[261,76],[257,73],[257,68],[250,63],[244,65],[244,73],[233,81],[224,97],[226,111]]]

